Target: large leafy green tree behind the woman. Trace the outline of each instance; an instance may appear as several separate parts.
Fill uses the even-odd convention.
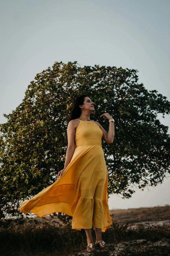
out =
[[[170,102],[138,84],[137,70],[77,61],[55,62],[31,81],[22,103],[0,125],[0,208],[11,215],[21,201],[56,180],[64,168],[67,120],[72,102],[87,94],[96,104],[91,115],[108,131],[108,112],[115,119],[113,144],[102,141],[108,170],[108,194],[131,197],[170,172],[170,136],[157,113],[169,114]]]

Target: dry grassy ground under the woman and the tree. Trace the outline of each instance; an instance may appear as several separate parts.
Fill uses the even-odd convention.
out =
[[[127,224],[119,223],[119,218],[125,222],[129,220],[136,222],[136,216],[144,214],[146,220],[147,213],[156,218],[169,216],[170,206],[138,208],[128,210],[110,211],[113,224],[106,232],[102,232],[102,239],[108,244],[106,251],[96,251],[91,255],[96,256],[163,256],[170,255],[170,228],[169,227],[150,227],[128,230]],[[141,209],[145,213],[141,213]],[[132,211],[132,213],[131,213]],[[113,214],[116,216],[116,220]],[[116,214],[117,215],[116,215]],[[129,214],[128,218],[125,218]],[[152,218],[152,219],[153,219]],[[46,219],[34,218],[25,224],[16,225],[10,223],[0,228],[0,255],[1,256],[83,256],[87,238],[85,230],[73,230],[70,219],[61,225],[57,218]],[[2,223],[1,223],[2,224]],[[95,230],[92,228],[92,236],[95,242]],[[165,243],[166,242],[166,243]],[[160,244],[160,246],[158,246]]]

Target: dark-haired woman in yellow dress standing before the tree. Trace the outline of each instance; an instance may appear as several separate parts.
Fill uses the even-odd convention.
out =
[[[68,146],[64,169],[57,180],[30,200],[23,202],[19,210],[35,213],[40,218],[54,212],[73,216],[72,228],[85,229],[87,251],[95,246],[105,247],[102,231],[112,224],[107,197],[108,174],[101,139],[113,143],[114,119],[109,119],[109,131],[90,119],[94,103],[86,95],[79,96],[73,104],[67,126]],[[108,225],[109,224],[109,225]],[[92,240],[92,225],[95,228],[95,246]]]

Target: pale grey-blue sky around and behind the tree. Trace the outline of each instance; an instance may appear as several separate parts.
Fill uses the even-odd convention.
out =
[[[54,61],[137,69],[138,83],[170,101],[169,12],[169,0],[1,0],[0,123]],[[169,115],[158,118],[170,127]],[[112,195],[109,209],[170,204],[169,187],[170,178],[130,199]]]

